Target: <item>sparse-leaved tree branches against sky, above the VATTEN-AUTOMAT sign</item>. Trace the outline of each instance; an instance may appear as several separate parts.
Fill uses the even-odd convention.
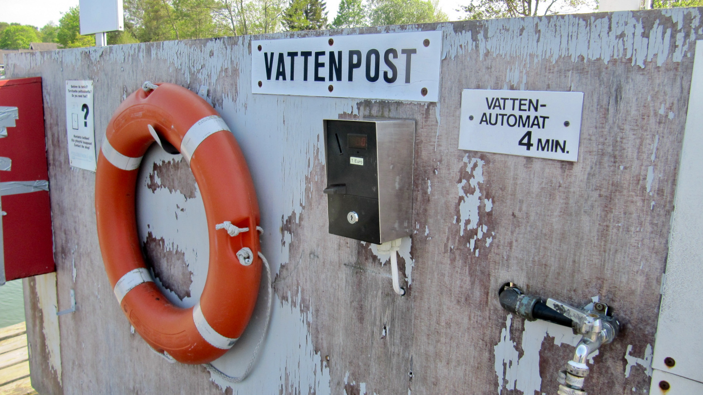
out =
[[[459,6],[457,11],[466,13],[466,20],[516,18],[523,16],[553,15],[572,13],[588,6],[595,9],[595,0],[471,0],[466,6]]]

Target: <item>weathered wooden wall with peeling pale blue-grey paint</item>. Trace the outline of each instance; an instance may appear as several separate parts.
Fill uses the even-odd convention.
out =
[[[60,370],[34,370],[49,361],[32,349],[35,387],[46,394],[555,394],[557,370],[578,338],[506,314],[496,291],[510,280],[574,305],[610,304],[624,330],[593,358],[587,389],[647,392],[693,44],[703,34],[699,9],[265,38],[415,30],[444,32],[439,103],[252,95],[248,36],[8,56],[9,77],[44,77],[59,309],[70,306],[70,289],[77,300],[77,311],[59,318]],[[275,276],[271,328],[245,382],[169,364],[130,332],[103,271],[95,175],[68,164],[67,79],[95,82],[98,144],[112,111],[145,80],[209,87],[207,100],[250,164]],[[579,162],[458,150],[467,88],[584,92]],[[327,233],[321,119],[337,117],[417,122],[416,231],[399,262],[406,297],[392,291],[387,255]],[[150,151],[138,212],[167,296],[194,304],[207,236],[200,191],[180,156]],[[32,302],[42,294],[28,285],[28,326],[40,325],[37,309],[46,303]],[[28,335],[33,347],[47,344],[44,332]],[[221,365],[236,365],[244,358],[237,353]]]

